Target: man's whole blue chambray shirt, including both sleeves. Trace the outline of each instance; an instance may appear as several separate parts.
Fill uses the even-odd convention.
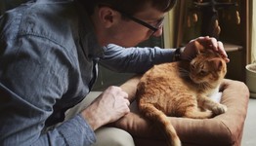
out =
[[[97,78],[97,64],[142,73],[173,50],[101,47],[79,1],[38,0],[0,18],[0,145],[87,146],[95,133],[80,114],[63,122]]]

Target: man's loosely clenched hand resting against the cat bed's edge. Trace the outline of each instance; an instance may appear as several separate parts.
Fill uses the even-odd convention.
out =
[[[93,129],[114,122],[130,112],[128,94],[119,87],[109,87],[82,111],[83,118]]]

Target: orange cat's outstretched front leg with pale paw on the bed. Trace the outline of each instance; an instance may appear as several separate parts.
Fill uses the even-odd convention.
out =
[[[211,98],[204,95],[198,97],[198,104],[200,104],[200,106],[203,108],[211,110],[215,115],[223,114],[228,110],[226,105],[215,102]]]

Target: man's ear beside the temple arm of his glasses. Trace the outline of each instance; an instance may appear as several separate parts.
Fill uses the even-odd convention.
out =
[[[99,8],[99,18],[104,26],[108,28],[113,24],[116,18],[116,12],[108,7],[101,7]]]

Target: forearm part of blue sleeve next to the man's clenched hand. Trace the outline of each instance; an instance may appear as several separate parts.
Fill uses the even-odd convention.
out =
[[[62,125],[42,134],[34,146],[91,146],[95,143],[94,131],[81,115],[65,121]],[[48,144],[49,143],[49,144]]]

